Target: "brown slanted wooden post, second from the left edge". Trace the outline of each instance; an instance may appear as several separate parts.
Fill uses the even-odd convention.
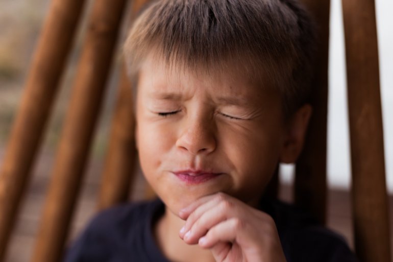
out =
[[[94,2],[33,254],[34,262],[61,260],[125,4],[126,0]]]

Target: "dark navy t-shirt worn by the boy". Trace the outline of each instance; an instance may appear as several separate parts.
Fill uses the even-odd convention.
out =
[[[357,262],[341,236],[291,205],[262,200],[276,222],[287,262]],[[97,215],[66,253],[64,262],[169,262],[153,225],[164,213],[157,199],[112,207]]]

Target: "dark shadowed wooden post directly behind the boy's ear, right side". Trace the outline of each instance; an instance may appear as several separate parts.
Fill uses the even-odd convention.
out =
[[[330,1],[302,0],[317,25],[318,49],[311,104],[313,112],[303,153],[296,164],[294,200],[326,223],[326,129]]]

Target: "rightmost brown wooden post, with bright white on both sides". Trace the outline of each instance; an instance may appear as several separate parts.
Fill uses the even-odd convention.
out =
[[[388,262],[390,238],[378,41],[373,0],[343,0],[351,134],[355,249],[360,261]]]

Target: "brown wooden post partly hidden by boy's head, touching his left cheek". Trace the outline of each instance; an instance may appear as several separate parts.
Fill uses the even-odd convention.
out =
[[[130,23],[148,0],[133,2]],[[98,208],[126,202],[135,176],[135,117],[133,87],[122,64],[118,97],[112,121],[109,150],[102,177]]]

